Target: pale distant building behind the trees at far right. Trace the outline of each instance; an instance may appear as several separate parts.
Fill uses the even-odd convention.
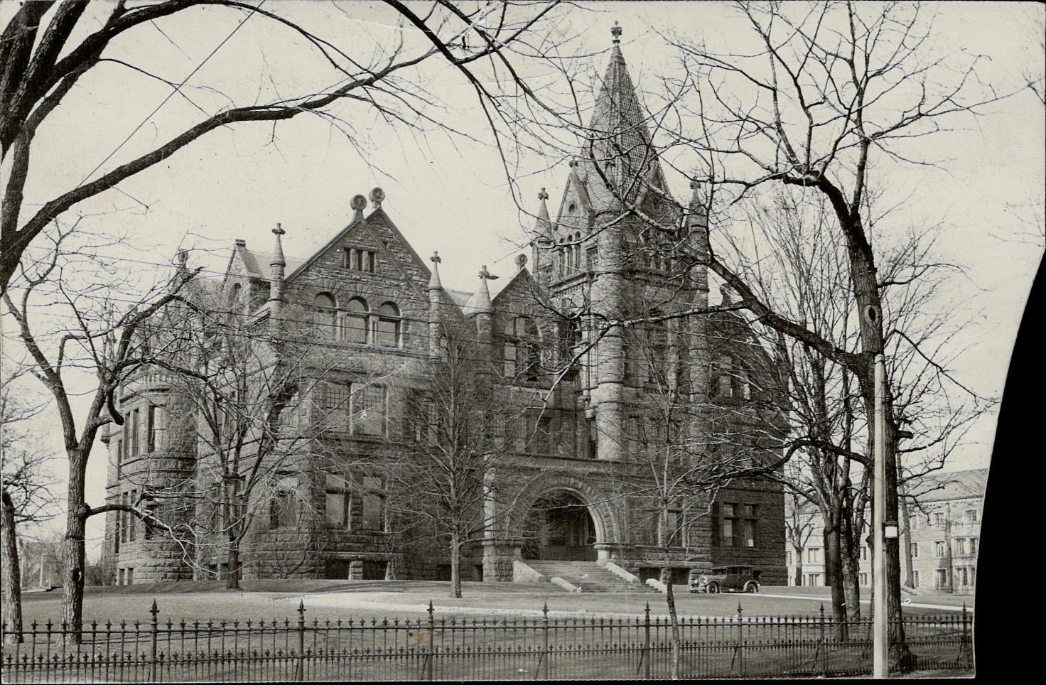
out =
[[[902,507],[900,522],[903,585],[923,591],[973,594],[977,584],[977,550],[986,483],[987,469],[975,469],[935,472],[918,483],[906,485],[909,497],[907,506]],[[801,564],[797,563],[799,552],[788,545],[788,584],[826,585],[820,512],[804,502],[796,519],[792,516],[791,499],[786,509],[789,526],[797,521],[801,527],[799,540],[804,541]],[[801,574],[799,584],[795,577],[797,572]],[[867,545],[861,546],[860,574],[861,585],[870,586],[871,556]]]

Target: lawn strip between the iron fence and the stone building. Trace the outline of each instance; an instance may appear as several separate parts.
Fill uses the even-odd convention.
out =
[[[90,588],[84,601],[84,615],[88,622],[137,620],[146,623],[154,598],[160,611],[160,620],[176,622],[296,620],[299,600],[304,602],[310,621],[416,619],[424,615],[430,600],[436,616],[445,618],[478,618],[484,614],[497,617],[519,613],[526,615],[540,611],[546,602],[553,616],[563,615],[559,612],[579,612],[583,616],[638,615],[643,613],[647,602],[652,616],[667,615],[664,597],[660,594],[575,594],[553,590],[546,584],[464,583],[464,597],[461,599],[448,597],[448,584],[436,581],[245,580],[243,585],[243,591],[226,590],[219,580]],[[801,589],[765,588],[767,594],[784,590]],[[734,616],[740,603],[746,616],[816,616],[826,599],[826,595],[820,593],[788,594],[795,594],[796,598],[767,597],[759,593],[691,595],[684,591],[676,593],[676,604],[681,615]],[[936,596],[913,598],[933,603],[937,603],[937,599]],[[61,590],[24,595],[23,600],[26,624],[58,621],[61,616]],[[905,608],[905,614],[911,616],[942,613],[946,612]]]

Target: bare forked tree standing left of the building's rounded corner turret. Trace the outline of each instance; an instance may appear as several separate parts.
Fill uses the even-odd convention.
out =
[[[87,520],[123,504],[92,507],[85,501],[85,476],[95,437],[110,423],[122,424],[113,393],[128,373],[147,362],[156,350],[142,346],[142,323],[179,297],[194,274],[175,270],[162,283],[137,290],[98,258],[97,239],[83,241],[75,231],[48,235],[50,249],[41,259],[20,266],[17,290],[4,292],[6,314],[15,335],[33,364],[33,375],[51,394],[58,409],[68,463],[66,528],[63,541],[63,620],[78,640],[83,620]],[[72,274],[76,273],[73,278]],[[130,302],[130,303],[129,303]],[[49,314],[41,312],[44,305]],[[88,408],[77,421],[67,383],[78,372],[94,376]]]

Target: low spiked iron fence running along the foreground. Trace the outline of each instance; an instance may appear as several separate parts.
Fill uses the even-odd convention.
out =
[[[3,625],[3,681],[246,682],[322,680],[548,680],[666,678],[666,617],[306,621],[92,621]],[[905,617],[916,669],[973,669],[970,618]],[[900,627],[894,625],[893,627]],[[679,619],[683,678],[795,678],[871,672],[871,623],[818,616]],[[21,640],[19,640],[21,638]]]

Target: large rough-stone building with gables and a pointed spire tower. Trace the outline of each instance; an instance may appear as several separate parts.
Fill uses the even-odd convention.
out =
[[[677,579],[690,569],[752,564],[765,584],[784,584],[783,496],[770,480],[734,480],[714,502],[680,502],[667,517],[652,516],[650,498],[630,494],[641,488],[622,489],[623,474],[635,478],[629,469],[636,455],[657,449],[657,430],[650,429],[660,426],[659,387],[682,388],[691,407],[703,408],[685,418],[686,435],[703,446],[693,459],[745,453],[755,463],[783,419],[770,359],[732,313],[612,328],[590,339],[602,321],[709,304],[706,267],[678,260],[672,241],[642,221],[680,226],[673,239],[685,242],[691,260],[707,250],[699,188],[686,205],[693,211],[670,200],[618,35],[590,123],[593,150],[586,146],[571,162],[554,221],[548,195],[539,196],[530,265],[520,255],[498,292],[492,294],[485,267],[476,292],[445,289],[440,258],[434,255],[430,268],[414,252],[377,188],[373,210],[365,214],[366,199],[355,197],[348,225],[306,258],[285,257],[279,228],[272,253],[236,241],[221,284],[228,301],[259,326],[286,333],[305,319],[326,332],[326,346],[356,350],[324,372],[305,398],[312,413],[304,420],[329,417],[347,402],[340,433],[323,439],[334,453],[372,465],[367,475],[319,470],[289,478],[271,513],[256,517],[244,577],[446,577],[445,551],[391,543],[396,524],[384,502],[402,494],[383,489],[381,463],[416,439],[404,428],[405,399],[425,391],[416,379],[445,353],[439,330],[452,322],[475,337],[480,358],[490,355],[475,362],[495,379],[492,405],[530,403],[519,425],[505,429],[500,465],[491,472],[505,487],[525,485],[511,511],[488,502],[492,520],[502,523],[462,551],[467,578],[513,580],[520,560],[606,558],[642,576],[670,568]],[[593,160],[606,162],[608,180]],[[469,258],[464,250],[446,254]],[[547,392],[553,383],[555,392]],[[126,420],[105,437],[109,501],[136,503],[146,492],[151,498],[164,486],[199,484],[212,457],[173,430],[172,417],[191,411],[169,378],[139,373],[116,402]],[[730,438],[737,435],[761,437],[738,444]],[[351,470],[348,457],[344,469]],[[530,534],[524,520],[533,516],[541,523]],[[119,584],[225,572],[207,541],[197,541],[188,564],[184,546],[123,512],[109,513],[106,536]],[[280,566],[289,551],[293,566]]]

